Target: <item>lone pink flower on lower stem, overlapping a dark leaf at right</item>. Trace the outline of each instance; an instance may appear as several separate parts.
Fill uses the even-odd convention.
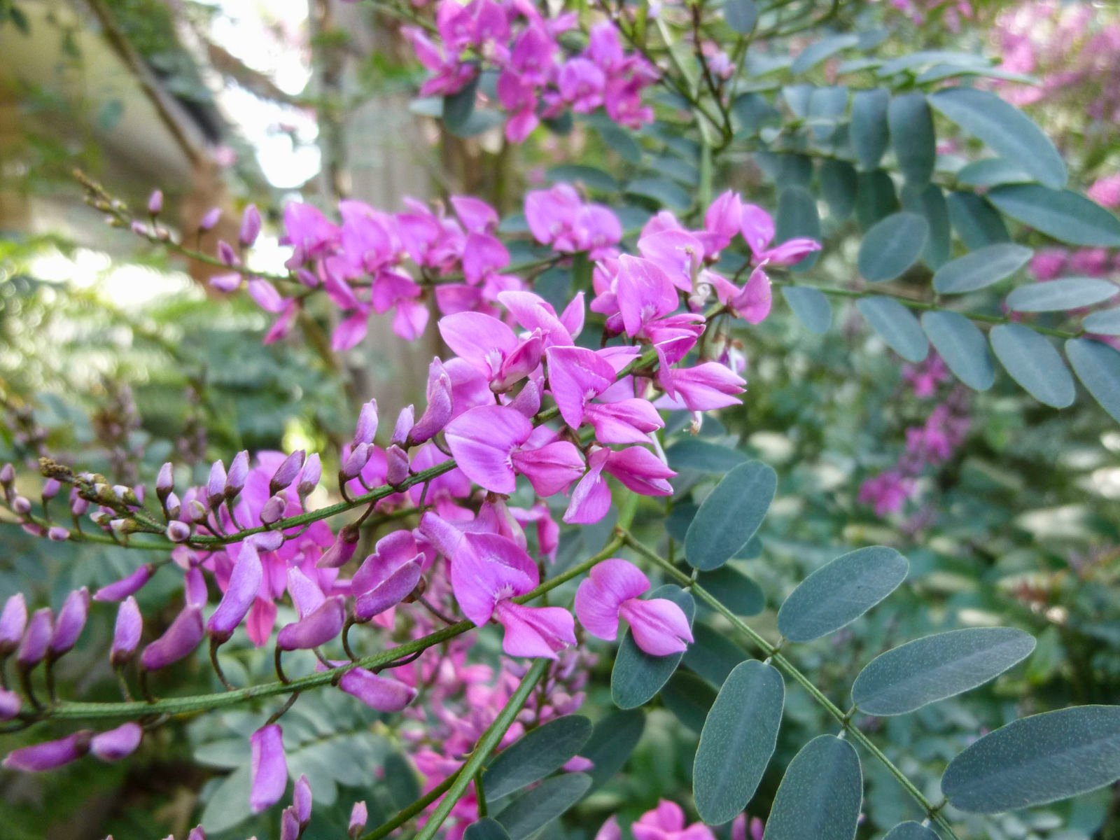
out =
[[[626,560],[604,560],[576,592],[576,616],[592,636],[614,641],[618,619],[631,626],[634,642],[651,656],[680,653],[692,641],[683,610],[666,598],[641,600],[650,580]]]

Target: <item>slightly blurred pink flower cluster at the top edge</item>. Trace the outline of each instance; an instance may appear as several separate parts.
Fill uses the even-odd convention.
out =
[[[628,128],[651,122],[653,110],[642,104],[642,91],[656,81],[656,68],[624,50],[609,22],[591,27],[587,46],[570,53],[561,36],[576,25],[575,12],[545,18],[534,6],[512,0],[441,0],[436,40],[419,27],[403,32],[432,74],[421,95],[449,96],[468,88],[483,72],[497,74],[497,99],[510,112],[510,142],[522,142],[541,120],[567,110],[601,108]]]

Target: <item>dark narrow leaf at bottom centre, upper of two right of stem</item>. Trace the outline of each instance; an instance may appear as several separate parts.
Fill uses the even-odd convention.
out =
[[[492,799],[506,796],[560,769],[591,737],[591,721],[567,715],[530,730],[503,749],[486,768],[483,785]]]

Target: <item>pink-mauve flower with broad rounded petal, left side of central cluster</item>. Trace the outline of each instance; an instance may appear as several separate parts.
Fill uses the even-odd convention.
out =
[[[547,430],[544,430],[547,433]],[[557,440],[526,447],[533,424],[505,405],[480,405],[447,424],[447,445],[459,469],[470,480],[493,493],[510,495],[517,474],[524,475],[541,496],[568,487],[584,470],[575,445]]]

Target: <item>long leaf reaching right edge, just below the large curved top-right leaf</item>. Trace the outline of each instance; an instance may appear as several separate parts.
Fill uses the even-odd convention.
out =
[[[1120,248],[1120,220],[1068,189],[1008,184],[988,192],[1005,215],[1071,245]]]

